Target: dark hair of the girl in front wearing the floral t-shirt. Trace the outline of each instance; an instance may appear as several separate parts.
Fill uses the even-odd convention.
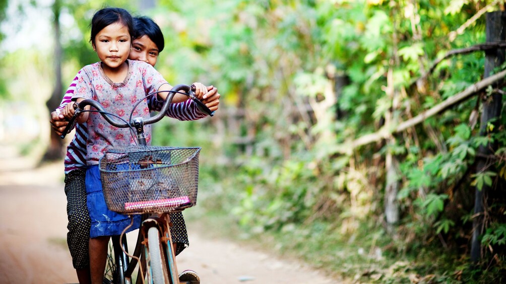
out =
[[[95,45],[95,36],[97,36],[103,28],[114,23],[124,25],[130,33],[131,40],[133,39],[134,20],[132,19],[132,15],[121,8],[103,8],[93,15],[91,23],[92,32],[90,37],[91,43]]]

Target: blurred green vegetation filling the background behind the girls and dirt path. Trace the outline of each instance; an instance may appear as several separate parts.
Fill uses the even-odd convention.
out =
[[[504,281],[503,1],[2,0],[2,145],[61,158],[49,112],[104,5],[160,25],[168,82],[222,95],[155,127],[202,147],[190,219],[357,282]]]

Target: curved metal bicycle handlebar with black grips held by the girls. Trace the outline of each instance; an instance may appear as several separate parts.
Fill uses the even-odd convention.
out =
[[[167,112],[167,110],[172,102],[172,99],[174,98],[174,95],[176,94],[176,92],[180,92],[180,91],[185,91],[186,95],[189,96],[197,104],[198,108],[200,108],[202,111],[206,112],[209,116],[214,116],[215,112],[210,110],[203,102],[201,102],[195,96],[194,86],[180,84],[180,85],[174,86],[171,89],[171,91],[169,91],[169,94],[165,98],[165,101],[163,102],[163,105],[162,105],[160,111],[156,114],[156,116],[145,119],[143,124],[144,125],[153,124],[155,122],[160,121],[163,118],[163,116],[165,116],[165,113]],[[118,120],[112,118],[111,116],[108,116],[107,111],[104,109],[102,104],[100,104],[100,102],[98,102],[96,100],[92,100],[92,99],[85,99],[77,104],[77,108],[75,109],[74,116],[70,119],[67,126],[65,127],[65,130],[63,131],[62,135],[60,136],[62,139],[65,138],[65,136],[74,128],[75,120],[77,119],[79,114],[82,111],[84,111],[85,106],[87,106],[87,105],[95,107],[100,112],[102,117],[108,123],[110,123],[111,125],[113,125],[115,127],[128,128],[128,127],[134,126],[134,122],[125,123],[122,121],[118,121]]]

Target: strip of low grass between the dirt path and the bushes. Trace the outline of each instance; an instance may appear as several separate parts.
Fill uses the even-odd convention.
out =
[[[196,206],[187,210],[185,217],[212,237],[238,242],[281,258],[302,260],[343,282],[457,284],[506,280],[504,265],[502,268],[492,265],[489,269],[473,267],[457,252],[443,250],[437,245],[400,252],[396,249],[396,241],[374,225],[362,224],[352,235],[342,234],[341,228],[325,223],[251,232],[240,228],[229,212],[216,208],[206,211],[203,206]]]

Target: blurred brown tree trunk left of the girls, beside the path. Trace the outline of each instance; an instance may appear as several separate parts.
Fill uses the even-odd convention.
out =
[[[54,72],[55,72],[55,86],[53,89],[53,93],[51,97],[46,102],[48,106],[49,112],[54,111],[59,105],[61,101],[61,96],[63,93],[62,90],[62,46],[60,42],[60,11],[61,11],[61,2],[60,0],[55,0],[53,4],[53,29],[54,29],[54,44],[55,44],[55,52],[54,52]],[[63,140],[58,136],[53,130],[51,130],[51,142],[49,144],[48,150],[44,155],[45,160],[57,160],[63,157],[62,152]]]

